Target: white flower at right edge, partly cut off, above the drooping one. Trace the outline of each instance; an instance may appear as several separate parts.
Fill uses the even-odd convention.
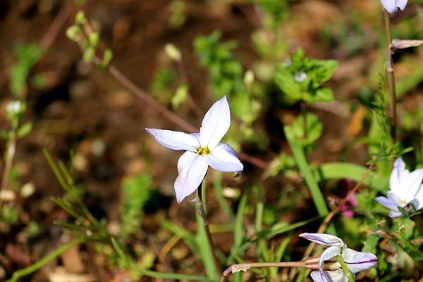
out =
[[[403,215],[398,207],[405,210],[420,210],[423,207],[423,169],[416,169],[409,172],[405,168],[402,158],[398,158],[393,164],[389,186],[391,190],[386,194],[387,197],[374,198],[376,202],[388,207],[391,212],[390,217],[400,217]]]

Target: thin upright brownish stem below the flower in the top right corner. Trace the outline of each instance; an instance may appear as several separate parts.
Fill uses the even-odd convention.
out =
[[[386,44],[386,76],[388,77],[388,91],[391,100],[391,136],[393,141],[396,141],[396,88],[395,75],[392,65],[392,50],[391,50],[391,18],[387,11],[385,13],[385,44]]]

